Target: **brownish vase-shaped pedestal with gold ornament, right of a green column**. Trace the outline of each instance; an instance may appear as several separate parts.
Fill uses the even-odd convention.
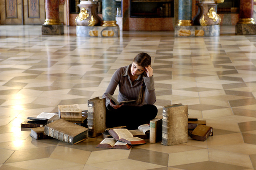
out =
[[[194,17],[194,25],[196,26],[210,26],[220,24],[220,16],[217,14],[217,5],[214,1],[200,1],[196,4],[198,13]]]

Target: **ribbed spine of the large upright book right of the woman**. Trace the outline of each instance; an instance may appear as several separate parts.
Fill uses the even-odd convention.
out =
[[[168,109],[163,108],[163,124],[162,124],[162,144],[168,146],[169,145],[169,114]]]

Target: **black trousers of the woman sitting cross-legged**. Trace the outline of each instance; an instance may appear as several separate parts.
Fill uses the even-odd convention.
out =
[[[127,129],[138,129],[138,126],[150,123],[157,115],[154,105],[121,106],[118,109],[106,108],[106,127],[126,126]]]

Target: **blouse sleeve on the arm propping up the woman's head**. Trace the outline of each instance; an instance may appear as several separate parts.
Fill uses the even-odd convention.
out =
[[[146,85],[145,102],[148,105],[154,105],[156,103],[154,77],[144,77],[143,79]]]

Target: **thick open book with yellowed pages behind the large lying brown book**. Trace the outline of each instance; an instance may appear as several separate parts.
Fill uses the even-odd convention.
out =
[[[58,114],[61,119],[72,123],[83,123],[82,109],[78,104],[58,105]]]

